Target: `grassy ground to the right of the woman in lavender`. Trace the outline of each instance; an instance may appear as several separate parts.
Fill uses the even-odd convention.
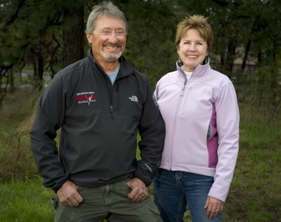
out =
[[[280,117],[268,122],[262,117],[266,113],[249,111],[243,105],[240,110],[240,153],[226,202],[225,221],[279,221]]]

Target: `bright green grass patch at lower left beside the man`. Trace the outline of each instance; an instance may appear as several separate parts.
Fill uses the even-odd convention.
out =
[[[53,191],[43,188],[39,179],[0,183],[0,221],[53,221]]]

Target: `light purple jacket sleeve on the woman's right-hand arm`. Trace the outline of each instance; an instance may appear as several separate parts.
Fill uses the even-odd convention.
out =
[[[218,163],[209,196],[226,201],[236,165],[239,144],[239,109],[232,83],[223,86],[216,106]]]

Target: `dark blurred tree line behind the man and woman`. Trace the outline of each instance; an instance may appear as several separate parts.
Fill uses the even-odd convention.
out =
[[[5,94],[32,69],[40,90],[44,76],[86,55],[84,30],[94,0],[0,0],[0,107]],[[270,110],[281,106],[281,1],[113,0],[125,13],[129,35],[124,53],[150,79],[176,69],[176,24],[201,14],[214,30],[211,67],[235,83],[240,102]],[[15,76],[19,73],[19,76]]]

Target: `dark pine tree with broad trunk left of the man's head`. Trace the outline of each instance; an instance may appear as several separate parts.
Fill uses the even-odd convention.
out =
[[[1,64],[22,69],[31,62],[34,88],[42,88],[46,71],[53,77],[84,57],[84,1],[13,0],[1,11]]]

